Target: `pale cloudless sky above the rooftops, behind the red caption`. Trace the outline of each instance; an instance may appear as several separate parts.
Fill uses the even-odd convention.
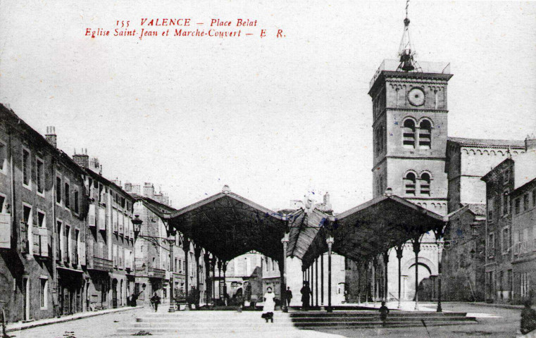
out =
[[[228,184],[274,210],[330,192],[342,212],[372,197],[368,85],[397,58],[404,8],[0,0],[0,102],[42,134],[54,125],[67,154],[87,148],[105,177],[154,183],[175,208]],[[257,25],[227,38],[86,36],[113,35],[118,20],[139,32],[142,18],[191,19],[158,32]],[[411,1],[409,18],[416,59],[451,64],[449,136],[536,132],[536,2]]]

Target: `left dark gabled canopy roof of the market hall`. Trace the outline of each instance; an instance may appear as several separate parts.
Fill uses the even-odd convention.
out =
[[[171,227],[223,261],[258,251],[280,261],[286,218],[232,192],[220,192],[179,210],[144,204]]]

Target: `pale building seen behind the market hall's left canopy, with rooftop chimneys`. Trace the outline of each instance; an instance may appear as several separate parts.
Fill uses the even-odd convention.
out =
[[[125,184],[125,189],[132,196],[143,196],[163,206],[170,206],[169,198],[161,192],[156,193],[154,184],[145,182],[143,188],[137,184]],[[170,292],[175,299],[185,301],[186,296],[199,291],[199,303],[205,303],[207,296],[212,298],[210,274],[210,255],[201,247],[185,239],[176,232],[173,245],[163,221],[144,206],[141,201],[135,203],[135,215],[143,221],[135,249],[136,285],[138,301],[149,304],[152,294],[161,296],[163,303],[168,303]],[[170,255],[173,250],[173,257]],[[173,278],[170,278],[173,277]],[[172,282],[173,280],[173,282]],[[172,291],[173,290],[173,291]],[[208,293],[208,294],[207,294]],[[199,304],[198,304],[199,305]]]

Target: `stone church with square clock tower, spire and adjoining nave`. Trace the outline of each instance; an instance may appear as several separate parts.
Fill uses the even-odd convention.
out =
[[[417,61],[409,23],[406,18],[399,60],[383,61],[370,81],[373,197],[385,192],[403,197],[444,216],[448,225],[440,243],[432,232],[422,237],[417,264],[415,246],[407,242],[378,259],[378,266],[387,264],[389,301],[415,299],[415,269],[419,299],[437,299],[440,259],[443,299],[483,301],[486,185],[480,178],[508,156],[523,153],[525,142],[449,137],[450,64]],[[350,263],[347,270],[347,301],[363,301],[351,272],[359,268]],[[373,281],[376,299],[385,299],[381,280],[377,274]]]

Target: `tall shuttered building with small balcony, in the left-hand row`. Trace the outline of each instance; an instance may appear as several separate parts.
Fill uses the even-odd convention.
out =
[[[86,169],[87,187],[87,299],[91,309],[117,308],[127,305],[134,275],[134,199],[120,182],[101,175],[96,158],[75,154]]]

